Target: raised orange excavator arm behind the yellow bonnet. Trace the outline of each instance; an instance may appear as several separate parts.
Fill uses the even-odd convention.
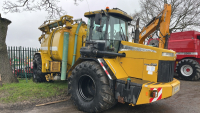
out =
[[[169,38],[169,25],[171,18],[171,5],[165,4],[164,10],[158,14],[157,17],[154,17],[139,33],[139,27],[136,27],[136,38],[135,40],[139,40],[138,43],[143,44],[145,39],[154,31],[159,30],[159,48],[167,48],[167,40]],[[139,22],[137,22],[138,26]],[[139,37],[138,37],[139,34]],[[137,43],[137,42],[136,42]]]

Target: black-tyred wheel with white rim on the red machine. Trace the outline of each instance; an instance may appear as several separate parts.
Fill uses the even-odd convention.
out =
[[[198,80],[200,78],[200,65],[193,59],[183,59],[178,62],[176,72],[184,80]]]

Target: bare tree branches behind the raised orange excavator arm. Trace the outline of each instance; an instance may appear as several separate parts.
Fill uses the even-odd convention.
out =
[[[165,0],[141,0],[141,11],[133,14],[133,22],[140,18],[140,27],[145,26],[164,9]],[[200,26],[199,0],[166,0],[172,6],[170,32],[195,30]]]

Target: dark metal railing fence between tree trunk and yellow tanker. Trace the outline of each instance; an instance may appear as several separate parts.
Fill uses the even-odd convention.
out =
[[[8,46],[7,51],[14,76],[31,78],[33,74],[33,56],[39,49]]]

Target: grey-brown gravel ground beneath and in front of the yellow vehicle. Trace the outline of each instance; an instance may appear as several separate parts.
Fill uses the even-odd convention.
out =
[[[181,81],[181,90],[171,98],[151,104],[129,106],[118,103],[104,113],[200,113],[200,81]],[[82,113],[70,100],[46,106],[12,110],[0,113]]]

